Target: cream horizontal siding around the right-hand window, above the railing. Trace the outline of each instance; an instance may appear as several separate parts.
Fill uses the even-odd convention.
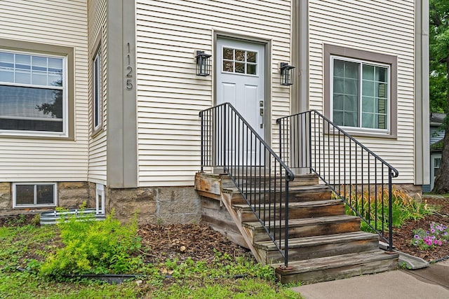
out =
[[[356,137],[396,167],[394,183],[414,181],[415,4],[394,1],[309,1],[309,109],[323,111],[323,44],[398,57],[397,139]]]

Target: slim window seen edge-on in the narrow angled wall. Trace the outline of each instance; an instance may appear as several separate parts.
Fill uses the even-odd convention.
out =
[[[92,64],[92,114],[93,133],[102,129],[102,67],[101,48],[99,47],[93,57]]]

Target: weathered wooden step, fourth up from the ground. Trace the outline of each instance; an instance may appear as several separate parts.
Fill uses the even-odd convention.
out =
[[[232,207],[236,209],[242,222],[257,221],[257,217],[248,204],[234,204]],[[257,215],[264,221],[285,217],[286,204],[255,204],[253,207]],[[342,214],[344,214],[344,203],[341,200],[291,202],[288,204],[289,219],[335,216]]]

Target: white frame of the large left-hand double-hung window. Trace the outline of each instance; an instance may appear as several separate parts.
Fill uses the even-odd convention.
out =
[[[51,131],[32,131],[32,130],[0,130],[0,135],[6,136],[32,136],[32,137],[68,137],[69,134],[69,96],[68,96],[68,62],[67,55],[54,55],[48,53],[27,51],[27,50],[10,50],[6,48],[0,48],[0,52],[13,53],[19,55],[33,55],[33,56],[44,56],[62,59],[62,88],[58,86],[52,87],[47,85],[33,85],[25,83],[8,83],[1,82],[0,85],[8,86],[18,86],[27,88],[46,88],[46,89],[60,89],[62,90],[62,132],[51,132]],[[1,117],[1,116],[0,116]]]

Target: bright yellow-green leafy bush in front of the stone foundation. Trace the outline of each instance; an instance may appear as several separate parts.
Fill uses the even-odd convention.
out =
[[[82,213],[82,211],[81,211]],[[135,272],[142,260],[133,257],[140,248],[137,219],[126,225],[114,218],[105,221],[83,215],[82,220],[69,216],[58,223],[64,247],[48,256],[40,273],[61,277],[66,274],[108,274]]]

